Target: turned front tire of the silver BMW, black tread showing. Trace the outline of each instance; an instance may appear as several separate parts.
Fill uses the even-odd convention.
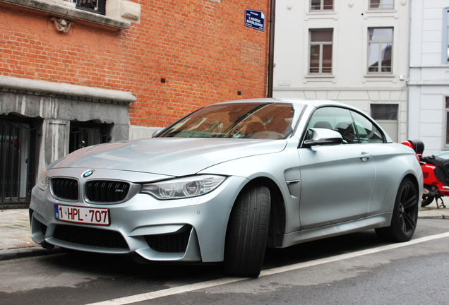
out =
[[[223,273],[258,277],[270,227],[270,190],[251,186],[237,197],[227,225]]]

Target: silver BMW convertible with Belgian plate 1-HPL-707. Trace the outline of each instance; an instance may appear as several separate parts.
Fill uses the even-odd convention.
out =
[[[422,186],[414,151],[354,107],[222,102],[152,138],[90,146],[42,169],[32,239],[256,277],[267,247],[366,229],[408,241]]]

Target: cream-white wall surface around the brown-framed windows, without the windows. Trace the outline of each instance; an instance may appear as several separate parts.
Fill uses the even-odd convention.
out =
[[[398,134],[407,138],[409,70],[409,1],[395,8],[369,10],[368,0],[335,0],[334,11],[309,12],[310,1],[277,0],[275,22],[274,97],[339,100],[370,114],[370,104],[398,104]],[[393,73],[367,73],[368,28],[393,28]],[[333,28],[333,73],[311,77],[309,29]],[[287,85],[286,85],[287,84]]]

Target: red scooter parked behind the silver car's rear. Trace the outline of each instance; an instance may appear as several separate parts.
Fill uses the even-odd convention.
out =
[[[426,206],[436,200],[436,208],[446,206],[443,202],[443,196],[449,196],[449,177],[447,167],[449,161],[435,156],[423,157],[424,143],[421,140],[407,140],[402,142],[417,153],[419,163],[421,164],[422,173],[424,176],[424,189],[422,193],[421,206]],[[444,182],[443,182],[444,181]],[[438,200],[441,204],[438,204]]]

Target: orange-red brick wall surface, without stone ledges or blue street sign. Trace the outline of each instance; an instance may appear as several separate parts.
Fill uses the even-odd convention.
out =
[[[2,6],[0,75],[131,91],[138,126],[266,96],[269,0],[133,1],[140,24],[118,32],[78,20],[57,32],[44,13]],[[244,26],[245,8],[265,13],[265,32]]]

